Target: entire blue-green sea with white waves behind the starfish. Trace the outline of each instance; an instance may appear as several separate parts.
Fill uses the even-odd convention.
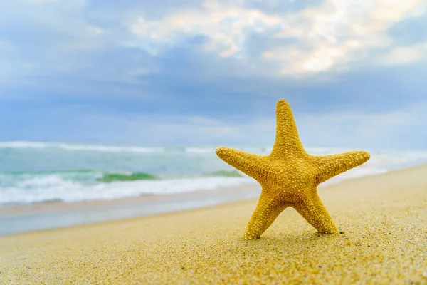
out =
[[[268,155],[271,150],[271,146],[231,147],[259,155]],[[216,146],[0,142],[0,204],[170,195],[257,183],[220,160],[215,149]],[[306,147],[312,155],[348,150]],[[368,151],[368,162],[324,185],[427,162],[427,151]]]

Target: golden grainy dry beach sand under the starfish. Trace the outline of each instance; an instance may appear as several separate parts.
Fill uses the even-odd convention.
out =
[[[241,238],[256,200],[0,238],[1,284],[427,284],[427,166],[319,190],[342,234],[294,209]]]

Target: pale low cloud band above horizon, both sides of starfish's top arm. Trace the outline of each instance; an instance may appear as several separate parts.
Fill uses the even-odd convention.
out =
[[[294,108],[300,138],[306,147],[425,149],[427,101],[398,110],[367,113],[336,110],[312,115]],[[275,137],[273,116],[233,125],[237,132],[224,142],[270,146]]]

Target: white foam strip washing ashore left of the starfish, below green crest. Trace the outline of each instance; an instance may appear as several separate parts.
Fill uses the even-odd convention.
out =
[[[139,195],[167,195],[206,191],[255,183],[249,177],[198,177],[171,180],[139,180],[82,185],[58,175],[34,177],[16,187],[3,188],[0,204],[33,203],[60,199],[63,202],[118,199]]]

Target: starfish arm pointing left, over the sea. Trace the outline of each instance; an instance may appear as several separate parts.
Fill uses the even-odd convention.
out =
[[[265,166],[265,157],[262,155],[253,155],[229,147],[218,147],[216,155],[229,165],[255,178],[258,182],[266,177],[265,171],[268,167]]]

